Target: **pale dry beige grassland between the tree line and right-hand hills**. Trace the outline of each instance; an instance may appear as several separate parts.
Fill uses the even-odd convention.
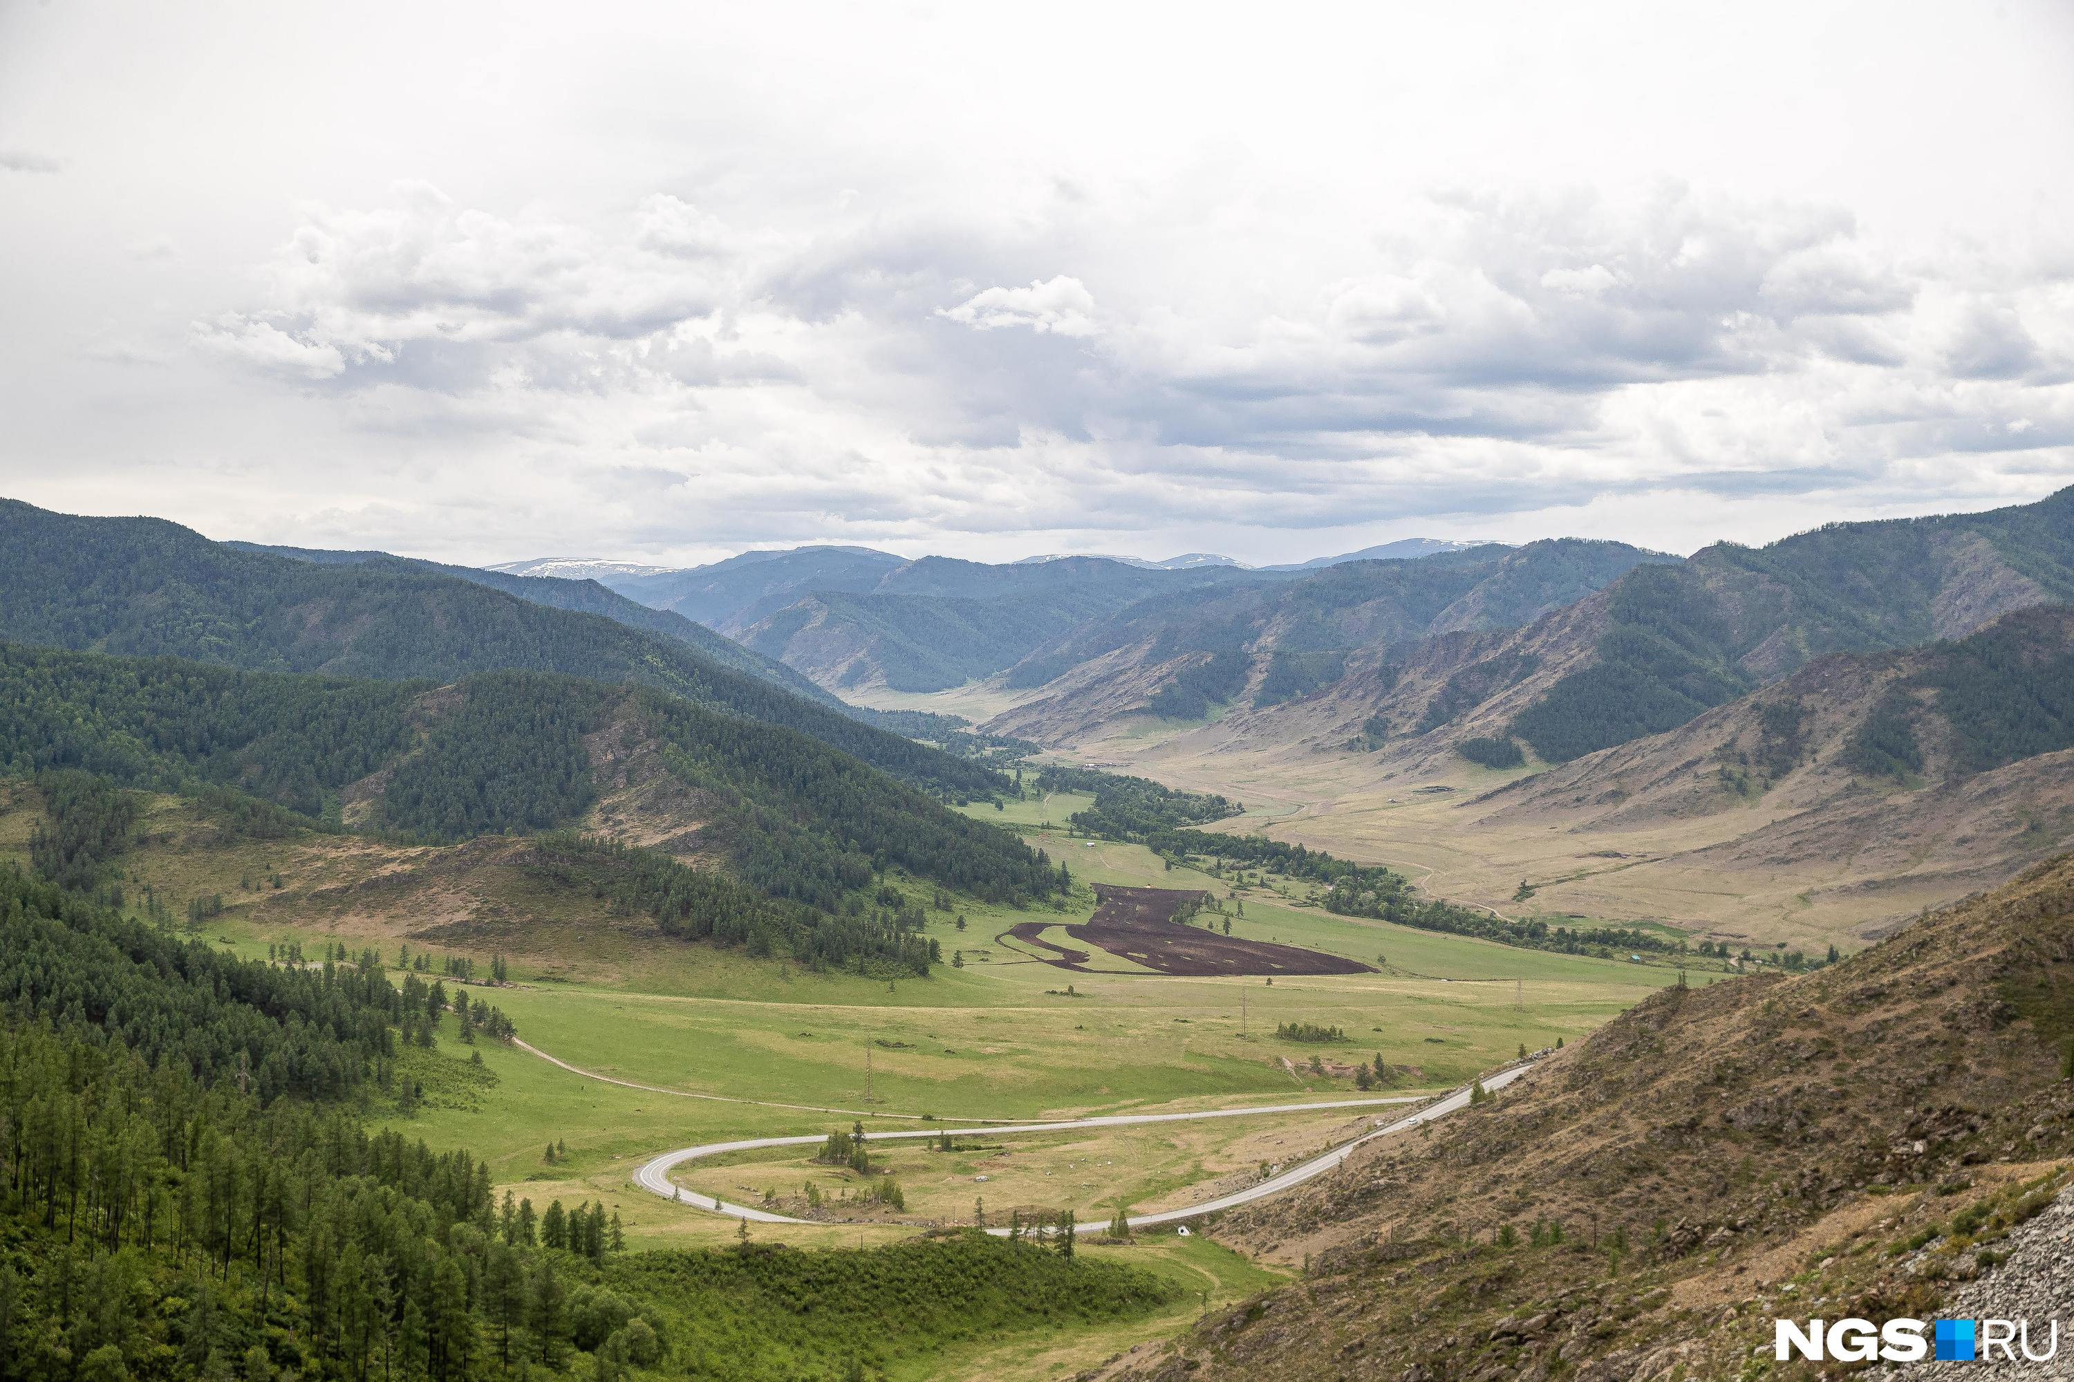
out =
[[[1603,803],[1508,813],[1516,795],[1479,799],[1545,764],[1491,770],[1417,745],[1319,751],[1319,739],[1344,743],[1344,735],[1309,722],[1300,743],[1286,733],[1246,718],[1236,728],[1226,722],[1155,739],[1124,720],[1062,755],[1246,803],[1244,818],[1213,830],[1257,830],[1342,859],[1388,863],[1433,896],[1551,923],[1670,923],[1738,948],[1784,942],[1819,952],[1835,942],[1854,950],[1898,917],[1952,903],[1983,882],[1918,867],[1912,855],[1883,851],[1877,834],[1867,840],[1844,832],[1819,849],[1800,836],[1790,836],[1790,851],[1744,849],[1757,832],[1806,809],[1777,795],[1715,813],[1653,813],[1620,824],[1591,818],[1607,809]],[[1993,813],[1958,816],[1947,834],[1999,832],[2008,824]],[[1825,828],[1821,820],[1802,826]],[[1522,880],[1537,892],[1516,903]]]

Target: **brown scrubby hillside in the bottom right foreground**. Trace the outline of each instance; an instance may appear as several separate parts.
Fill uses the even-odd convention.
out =
[[[1773,1318],[1933,1318],[2051,1201],[2070,1038],[2068,859],[1809,975],[1661,990],[1226,1218],[1305,1280],[1118,1372],[1813,1378],[1769,1365]]]

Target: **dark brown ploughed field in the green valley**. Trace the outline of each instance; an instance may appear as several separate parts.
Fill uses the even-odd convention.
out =
[[[1188,911],[1190,903],[1209,901],[1207,892],[1182,892],[1176,888],[1114,888],[1095,884],[1095,915],[1078,925],[1068,925],[1066,934],[1085,940],[1110,955],[1118,955],[1147,969],[1176,975],[1242,975],[1242,973],[1373,973],[1371,965],[1323,955],[1300,946],[1278,946],[1265,940],[1240,940],[1220,936],[1203,925],[1188,925],[1174,917]],[[1043,940],[1045,921],[1018,921],[1004,932],[1016,940],[1052,950],[1058,959],[1045,965],[1076,969],[1081,973],[1128,973],[1097,969],[1087,950]]]

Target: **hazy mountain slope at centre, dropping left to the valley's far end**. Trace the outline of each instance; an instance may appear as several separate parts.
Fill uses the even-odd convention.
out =
[[[1421,639],[1529,625],[1667,562],[1618,542],[1555,540],[1147,598],[1010,668],[1010,687],[1039,691],[989,728],[1072,741],[1130,712],[1188,720],[1211,706],[1329,697]]]

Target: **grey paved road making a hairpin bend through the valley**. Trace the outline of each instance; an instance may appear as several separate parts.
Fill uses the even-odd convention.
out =
[[[1508,1069],[1491,1075],[1489,1079],[1485,1079],[1483,1087],[1485,1089],[1504,1089],[1514,1079],[1518,1079],[1520,1075],[1524,1075],[1529,1069],[1531,1069],[1531,1065],[1508,1067]],[[1311,1181],[1313,1177],[1321,1177],[1327,1170],[1334,1170],[1348,1156],[1354,1154],[1354,1148],[1358,1148],[1363,1143],[1375,1141],[1377,1137],[1390,1137],[1392,1133],[1402,1133],[1402,1131],[1414,1129],[1421,1123],[1431,1123],[1433,1118],[1444,1118],[1444,1116],[1452,1114],[1458,1108],[1466,1108],[1468,1106],[1468,1096],[1470,1096],[1470,1089],[1464,1085],[1462,1089],[1456,1089],[1454,1094],[1437,1098],[1437,1100],[1429,1102],[1425,1108],[1421,1108],[1421,1110],[1417,1110],[1412,1114],[1406,1114],[1406,1116],[1398,1118],[1396,1123],[1379,1127],[1373,1133],[1363,1133],[1361,1137],[1356,1137],[1352,1141],[1346,1141],[1346,1143],[1340,1143],[1332,1152],[1325,1152],[1321,1156],[1313,1156],[1307,1162],[1290,1166],[1282,1174],[1271,1177],[1267,1181],[1261,1181],[1259,1185],[1249,1185],[1242,1191],[1232,1191],[1230,1195],[1220,1195],[1217,1199],[1207,1199],[1203,1204],[1193,1204],[1193,1206],[1186,1206],[1186,1208],[1180,1208],[1180,1210],[1161,1210],[1157,1214],[1132,1214],[1128,1218],[1128,1224],[1132,1228],[1149,1228],[1153,1224],[1174,1224],[1174,1222],[1180,1222],[1180,1220],[1186,1220],[1186,1218],[1201,1218],[1203,1214],[1215,1214],[1220,1210],[1230,1210],[1230,1208],[1236,1208],[1236,1206],[1242,1206],[1242,1204],[1251,1204],[1255,1199],[1267,1199],[1269,1195],[1280,1195],[1286,1189],[1294,1189],[1296,1185],[1302,1185],[1305,1181]],[[946,1133],[950,1133],[952,1137],[981,1135],[981,1133],[998,1133],[998,1135],[1000,1133],[1058,1133],[1058,1131],[1072,1131],[1072,1129],[1081,1129],[1081,1127],[1132,1127],[1132,1125],[1141,1125],[1141,1123],[1188,1123],[1188,1121],[1195,1121],[1195,1118],[1240,1118],[1240,1116],[1246,1116],[1246,1114],[1315,1112],[1315,1110],[1321,1110],[1321,1108],[1367,1108],[1367,1106],[1375,1106],[1375,1104],[1417,1104],[1417,1102],[1419,1102],[1419,1096],[1412,1096],[1412,1098],[1388,1098],[1388,1100],[1338,1100],[1338,1102],[1332,1102],[1332,1104],[1265,1104],[1265,1106],[1257,1106],[1257,1108],[1209,1108],[1209,1110],[1203,1110],[1203,1112],[1176,1112],[1176,1114],[1110,1114],[1110,1116],[1103,1116],[1103,1118],[1072,1118],[1072,1121],[1064,1121],[1064,1123],[1012,1123],[1012,1125],[1006,1125],[1006,1127],[1002,1127],[1002,1125],[962,1127],[962,1129],[960,1127],[933,1127],[933,1129],[915,1129],[915,1131],[900,1131],[900,1133],[865,1133],[865,1141],[896,1141],[896,1139],[902,1139],[902,1137],[942,1137]],[[699,1148],[678,1148],[676,1152],[664,1152],[655,1160],[651,1160],[645,1166],[641,1166],[641,1170],[635,1172],[635,1183],[641,1189],[645,1189],[645,1191],[662,1195],[664,1199],[674,1199],[678,1204],[686,1204],[686,1206],[691,1206],[695,1210],[705,1210],[709,1214],[726,1214],[730,1218],[747,1218],[749,1222],[755,1222],[755,1224],[817,1224],[821,1220],[792,1218],[788,1214],[772,1214],[769,1210],[757,1210],[755,1206],[730,1204],[730,1201],[724,1201],[724,1199],[709,1199],[705,1195],[693,1195],[691,1191],[680,1191],[676,1185],[670,1183],[670,1170],[676,1168],[676,1166],[680,1166],[680,1164],[684,1164],[684,1162],[697,1162],[697,1160],[703,1160],[707,1156],[726,1156],[728,1152],[755,1152],[759,1148],[811,1148],[811,1145],[819,1145],[825,1139],[828,1139],[825,1133],[809,1133],[805,1137],[745,1137],[740,1141],[711,1141],[711,1143],[705,1143],[705,1145],[699,1145]],[[1099,1222],[1097,1220],[1089,1220],[1089,1222],[1081,1222],[1076,1226],[1078,1228],[1105,1228],[1108,1224],[1110,1224],[1110,1220],[1099,1220]],[[991,1233],[996,1237],[1006,1237],[1008,1235],[1006,1228],[987,1228],[987,1233]]]

